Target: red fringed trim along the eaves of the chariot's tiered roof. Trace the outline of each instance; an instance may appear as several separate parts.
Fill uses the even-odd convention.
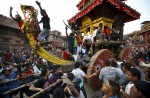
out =
[[[88,14],[90,11],[92,11],[96,6],[101,5],[104,0],[92,0],[91,2],[85,4],[86,0],[81,0],[79,4],[77,5],[80,12],[78,12],[75,16],[73,16],[69,22],[73,23],[74,21],[78,20],[79,18],[83,17],[84,15]],[[126,20],[125,22],[133,21],[140,18],[140,13],[138,13],[136,10],[132,9],[130,6],[126,5],[124,0],[107,0],[106,2],[111,3],[113,6],[116,7],[118,10],[124,11],[126,14],[131,16],[130,19]],[[84,5],[84,7],[83,7]]]

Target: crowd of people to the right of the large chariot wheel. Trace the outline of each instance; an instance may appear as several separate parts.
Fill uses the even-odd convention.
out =
[[[149,98],[149,48],[133,48],[132,55],[123,61],[114,58],[105,60],[105,67],[99,74],[103,98]]]

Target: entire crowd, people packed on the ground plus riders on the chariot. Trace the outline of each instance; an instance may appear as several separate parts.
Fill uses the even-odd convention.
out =
[[[50,18],[40,3],[38,1],[36,3],[43,16],[40,21],[43,22],[43,30],[37,37],[41,42],[50,31]],[[10,8],[12,17],[11,13],[12,7]],[[16,18],[12,17],[21,27],[21,17],[19,20]],[[98,28],[94,27],[93,34],[90,34],[88,27],[86,35],[82,38],[81,33],[72,28],[72,33],[68,35],[69,26],[66,25],[68,50],[63,48],[55,53],[64,60],[74,60],[73,55],[77,55],[73,65],[75,69],[68,73],[64,73],[59,65],[44,60],[31,49],[20,48],[12,51],[7,49],[1,53],[0,97],[12,98],[20,94],[20,98],[23,98],[23,94],[32,96],[40,92],[36,97],[50,98],[51,95],[53,98],[88,98],[84,87],[85,80],[99,75],[102,98],[149,98],[150,47],[133,48],[132,54],[122,61],[115,58],[107,59],[103,61],[105,66],[101,70],[91,75],[87,74],[88,63],[84,57],[89,57],[92,43],[97,40],[119,40],[119,30],[115,26],[105,27],[104,30],[102,27],[102,23]],[[20,88],[22,85],[26,86]]]

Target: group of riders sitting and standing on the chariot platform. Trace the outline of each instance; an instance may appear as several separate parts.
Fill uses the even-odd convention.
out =
[[[66,24],[65,24],[66,25]],[[68,41],[68,51],[72,55],[83,54],[86,57],[89,57],[89,54],[92,54],[92,45],[105,41],[118,41],[120,30],[116,26],[108,27],[105,26],[104,30],[103,24],[99,23],[98,27],[92,28],[87,27],[84,36],[83,32],[80,32],[77,28],[71,28],[66,25],[66,36]],[[67,32],[67,29],[71,29],[70,35]]]

